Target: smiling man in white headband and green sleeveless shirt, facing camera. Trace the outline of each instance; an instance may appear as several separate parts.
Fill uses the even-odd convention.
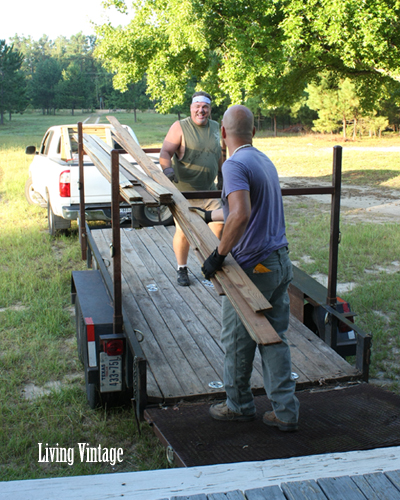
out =
[[[176,121],[169,129],[160,152],[160,165],[170,181],[180,191],[216,190],[215,183],[222,165],[219,124],[210,119],[211,96],[195,92],[192,96],[190,116]],[[190,200],[206,211],[221,206],[219,199]],[[210,222],[210,221],[207,221]],[[189,242],[176,223],[173,249],[178,264],[178,284],[190,285],[187,269]],[[210,229],[220,238],[223,223],[210,222]]]

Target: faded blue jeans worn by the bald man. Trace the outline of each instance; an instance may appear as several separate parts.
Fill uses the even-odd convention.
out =
[[[294,392],[290,349],[285,332],[289,326],[288,287],[293,279],[287,248],[273,252],[261,264],[270,272],[245,272],[272,305],[264,314],[281,337],[280,344],[257,345],[240,321],[227,297],[222,298],[221,342],[225,349],[224,384],[228,407],[245,415],[255,413],[250,378],[256,348],[261,354],[264,388],[275,415],[286,423],[298,421],[299,402]]]

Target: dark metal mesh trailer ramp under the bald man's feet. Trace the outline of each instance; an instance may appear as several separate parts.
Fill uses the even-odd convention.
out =
[[[266,396],[256,396],[256,419],[221,422],[209,403],[148,408],[146,420],[179,466],[264,461],[372,450],[400,445],[400,396],[367,383],[297,393],[298,432],[281,432],[262,422],[270,411]]]

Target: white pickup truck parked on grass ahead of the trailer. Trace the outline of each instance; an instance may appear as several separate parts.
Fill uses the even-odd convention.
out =
[[[119,148],[111,134],[111,125],[83,124],[83,133],[96,135],[112,148]],[[133,130],[124,125],[139,144]],[[26,154],[35,155],[25,183],[25,196],[30,204],[47,208],[49,233],[71,227],[79,214],[78,143],[74,138],[77,125],[54,126],[47,130],[39,151],[28,146]],[[132,160],[131,157],[129,157]],[[88,221],[111,220],[111,185],[88,156],[84,156],[85,213]],[[146,206],[122,208],[121,215],[132,216],[142,226],[169,224],[172,220],[167,207]]]

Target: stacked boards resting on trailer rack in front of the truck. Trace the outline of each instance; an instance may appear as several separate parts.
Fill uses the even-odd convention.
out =
[[[100,173],[111,182],[112,148],[95,135],[83,134],[86,154],[99,169]],[[148,206],[168,205],[172,203],[172,193],[161,186],[126,158],[119,157],[119,185],[121,197],[129,204]]]

